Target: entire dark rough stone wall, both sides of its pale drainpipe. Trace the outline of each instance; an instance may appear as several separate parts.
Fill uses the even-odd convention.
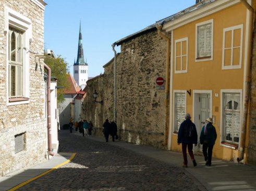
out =
[[[156,90],[156,77],[165,78],[166,41],[156,30],[121,43],[117,63],[117,127],[121,140],[163,147],[165,90]],[[85,118],[92,120],[102,136],[106,118],[114,118],[114,60],[104,66],[103,75],[87,81]],[[99,93],[95,103],[94,89]]]

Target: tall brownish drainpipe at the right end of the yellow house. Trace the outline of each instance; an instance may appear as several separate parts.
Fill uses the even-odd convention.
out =
[[[249,96],[250,96],[250,74],[251,74],[251,53],[252,53],[252,29],[253,29],[253,8],[245,0],[240,0],[240,2],[246,6],[249,11],[248,15],[248,40],[247,40],[247,55],[246,55],[246,72],[245,72],[245,101],[243,103],[243,119],[242,119],[242,129],[241,129],[241,141],[240,141],[240,153],[237,158],[238,163],[243,160],[245,156],[245,144],[246,144],[246,132],[249,132],[249,120],[250,113],[249,107]]]

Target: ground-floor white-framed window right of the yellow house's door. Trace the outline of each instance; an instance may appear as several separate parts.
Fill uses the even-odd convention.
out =
[[[239,143],[241,127],[241,94],[223,93],[223,141]]]

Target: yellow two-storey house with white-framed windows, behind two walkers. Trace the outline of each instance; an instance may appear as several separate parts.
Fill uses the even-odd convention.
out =
[[[168,149],[181,151],[177,132],[190,113],[199,136],[205,119],[213,118],[217,131],[213,157],[232,160],[243,152],[253,20],[250,5],[255,7],[251,0],[247,2],[202,1],[157,22],[172,36]],[[194,151],[201,152],[202,146]]]

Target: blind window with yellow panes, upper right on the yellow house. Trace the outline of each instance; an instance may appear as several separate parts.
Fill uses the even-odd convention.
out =
[[[223,29],[222,69],[240,69],[242,66],[243,25]]]

